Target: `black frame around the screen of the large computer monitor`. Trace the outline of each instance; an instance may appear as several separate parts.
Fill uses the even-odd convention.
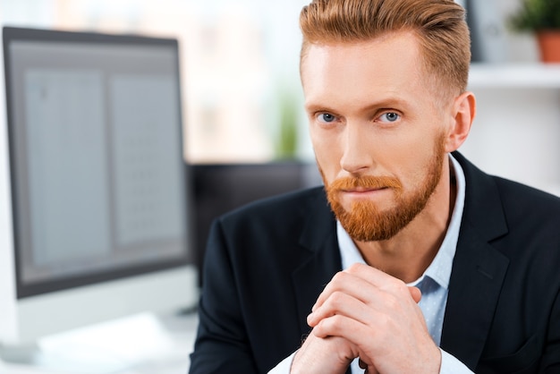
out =
[[[113,45],[113,46],[159,46],[170,47],[174,50],[174,70],[177,79],[181,81],[181,68],[180,68],[180,51],[179,42],[176,38],[155,38],[140,35],[124,35],[124,34],[108,34],[100,32],[86,32],[86,31],[70,31],[70,30],[41,30],[21,27],[3,27],[3,50],[4,50],[4,89],[5,89],[5,105],[6,105],[6,119],[7,119],[7,139],[8,139],[8,157],[9,159],[9,175],[10,185],[12,190],[12,223],[13,223],[13,259],[15,266],[15,285],[17,299],[23,299],[30,296],[39,295],[42,293],[53,293],[56,291],[68,290],[74,287],[94,285],[101,282],[122,279],[130,276],[140,276],[143,274],[154,273],[160,270],[184,267],[185,265],[194,264],[194,254],[192,251],[192,238],[193,230],[191,230],[191,178],[189,177],[190,170],[184,162],[182,168],[178,172],[181,174],[180,179],[183,182],[182,191],[184,191],[184,217],[185,217],[185,249],[182,252],[182,257],[177,259],[165,259],[151,264],[141,264],[129,266],[127,268],[118,268],[106,270],[95,274],[88,274],[82,276],[67,276],[60,279],[42,281],[38,283],[25,283],[21,276],[21,259],[20,259],[20,239],[19,239],[19,221],[18,221],[18,189],[16,188],[17,175],[15,170],[15,149],[13,149],[13,98],[12,98],[12,84],[10,81],[12,66],[11,66],[11,51],[10,45],[13,42],[32,41],[32,42],[45,42],[45,43],[81,43],[93,45]],[[181,125],[178,129],[179,136],[177,140],[180,142],[179,149],[181,154],[184,155],[183,144],[183,126],[182,126],[182,92],[181,84],[176,85],[178,90],[178,119]]]

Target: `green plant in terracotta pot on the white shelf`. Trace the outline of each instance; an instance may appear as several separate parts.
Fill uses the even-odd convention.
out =
[[[536,34],[543,62],[560,63],[560,0],[522,0],[509,21],[513,30]]]

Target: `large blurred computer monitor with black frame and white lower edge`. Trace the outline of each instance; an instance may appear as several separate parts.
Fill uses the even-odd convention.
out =
[[[177,41],[3,39],[0,345],[196,305]]]

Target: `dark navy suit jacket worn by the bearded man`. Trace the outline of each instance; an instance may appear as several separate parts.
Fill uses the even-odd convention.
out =
[[[560,373],[560,199],[484,174],[455,153],[466,201],[441,347],[477,373]],[[216,220],[191,373],[265,373],[310,332],[341,270],[322,188]]]

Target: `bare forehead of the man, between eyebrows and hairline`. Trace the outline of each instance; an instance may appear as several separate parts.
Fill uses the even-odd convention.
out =
[[[422,90],[420,45],[412,32],[355,43],[310,44],[301,61],[306,101]]]

